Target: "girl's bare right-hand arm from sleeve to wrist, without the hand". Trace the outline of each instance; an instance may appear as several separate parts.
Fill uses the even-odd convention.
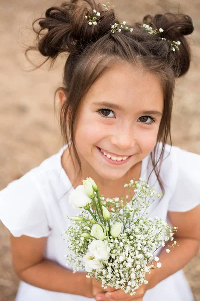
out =
[[[178,227],[174,240],[179,247],[171,248],[168,254],[167,245],[173,241],[166,241],[166,247],[159,255],[162,266],[152,270],[153,277],[150,281],[152,287],[183,268],[196,255],[200,246],[200,206],[187,212],[168,211],[168,218],[172,226]]]

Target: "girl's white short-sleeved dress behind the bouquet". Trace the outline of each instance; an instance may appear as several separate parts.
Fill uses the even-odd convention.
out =
[[[68,203],[71,182],[61,165],[61,155],[68,146],[45,159],[20,179],[14,180],[0,191],[0,219],[16,237],[22,234],[39,238],[48,236],[46,258],[66,268],[67,244],[64,230],[70,224],[69,216],[79,209]],[[159,150],[161,144],[159,145]],[[164,158],[170,146],[166,145]],[[150,155],[142,161],[141,178],[147,180],[152,170]],[[200,155],[172,146],[170,155],[161,168],[161,179],[165,184],[165,195],[149,207],[149,216],[167,221],[167,211],[184,212],[199,205],[200,200]],[[161,192],[153,173],[149,185]],[[69,191],[69,189],[71,190]],[[116,196],[117,197],[117,196]],[[160,252],[160,250],[158,250]],[[67,283],[66,283],[67,285]],[[23,281],[20,282],[16,301],[86,301],[95,300],[74,294],[44,290]],[[143,301],[193,301],[194,296],[182,270],[148,290]]]

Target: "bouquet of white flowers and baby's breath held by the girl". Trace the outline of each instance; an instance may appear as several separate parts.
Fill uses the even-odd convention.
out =
[[[73,272],[85,269],[88,278],[102,281],[102,287],[123,289],[133,295],[140,285],[148,283],[145,274],[161,267],[153,254],[165,241],[174,239],[177,227],[148,217],[148,207],[162,193],[156,193],[141,178],[130,180],[124,187],[130,197],[105,199],[94,180],[87,178],[70,194],[69,203],[82,210],[78,216],[68,217],[73,221],[65,230],[71,254],[65,257]],[[175,245],[176,241],[168,247]]]

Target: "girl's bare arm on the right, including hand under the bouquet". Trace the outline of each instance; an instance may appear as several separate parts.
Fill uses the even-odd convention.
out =
[[[142,301],[146,290],[153,288],[160,281],[182,269],[198,252],[200,246],[200,206],[187,212],[172,212],[168,211],[168,217],[172,226],[178,227],[178,231],[174,236],[179,246],[171,248],[170,253],[166,252],[174,241],[166,241],[166,246],[158,255],[161,268],[151,270],[151,273],[146,273],[148,284],[143,284],[136,290],[135,296],[130,296],[124,293],[123,290],[118,290],[110,293],[100,293],[96,295],[96,299],[101,297],[101,301],[112,301],[127,299],[129,301]],[[107,296],[109,295],[109,298]],[[100,299],[99,299],[100,300]]]

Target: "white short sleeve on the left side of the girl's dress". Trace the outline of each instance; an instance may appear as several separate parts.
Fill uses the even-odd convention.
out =
[[[15,237],[50,234],[42,198],[28,173],[0,191],[0,220]]]

